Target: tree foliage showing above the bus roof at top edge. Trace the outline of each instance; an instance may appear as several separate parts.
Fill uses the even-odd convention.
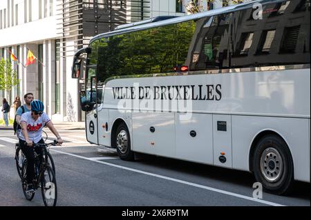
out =
[[[243,0],[178,0],[179,3],[182,3],[185,6],[187,14],[196,14],[198,12],[203,12],[209,10],[211,3],[216,3],[221,1],[224,6],[229,5],[229,3],[238,4],[243,3]],[[207,3],[207,6],[203,6],[203,2]]]

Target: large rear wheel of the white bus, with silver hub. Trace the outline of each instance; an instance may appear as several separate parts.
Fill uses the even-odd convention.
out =
[[[283,139],[271,134],[256,145],[254,175],[267,192],[288,194],[294,183],[294,165],[290,149]]]

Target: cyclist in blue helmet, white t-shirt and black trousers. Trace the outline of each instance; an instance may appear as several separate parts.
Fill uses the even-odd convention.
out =
[[[19,146],[27,159],[27,190],[33,190],[33,179],[35,179],[35,152],[32,143],[44,143],[42,139],[42,129],[48,126],[51,132],[57,137],[59,144],[63,143],[62,138],[53,126],[48,115],[44,113],[44,104],[40,100],[33,100],[30,103],[31,112],[26,112],[21,115],[21,134],[19,135]],[[35,149],[37,154],[40,154],[40,149]]]

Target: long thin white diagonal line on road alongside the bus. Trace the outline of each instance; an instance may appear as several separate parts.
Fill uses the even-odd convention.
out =
[[[158,178],[161,178],[161,179],[167,179],[169,181],[174,181],[174,182],[177,182],[177,183],[182,183],[182,184],[185,184],[185,185],[188,185],[188,186],[194,186],[194,187],[197,187],[197,188],[202,188],[202,189],[205,189],[205,190],[209,190],[209,191],[213,191],[213,192],[218,192],[218,193],[221,193],[221,194],[227,194],[227,195],[232,196],[232,197],[238,197],[238,198],[246,199],[246,200],[249,200],[249,201],[263,203],[263,204],[269,205],[269,206],[284,206],[284,205],[281,205],[279,203],[273,203],[271,201],[265,201],[265,200],[262,200],[262,199],[254,199],[252,197],[247,197],[247,196],[244,196],[242,194],[237,194],[237,193],[234,193],[234,192],[228,192],[228,191],[225,191],[225,190],[219,190],[219,189],[216,189],[216,188],[211,188],[211,187],[208,187],[208,186],[203,186],[203,185],[196,184],[196,183],[191,183],[191,182],[188,182],[188,181],[183,181],[183,180],[180,180],[180,179],[174,179],[174,178],[171,178],[171,177],[165,177],[165,176],[162,176],[162,175],[159,175],[159,174],[153,174],[151,172],[145,172],[145,171],[142,171],[142,170],[136,170],[136,169],[133,169],[133,168],[127,168],[127,167],[116,165],[116,164],[113,164],[113,163],[107,163],[107,162],[104,162],[104,161],[98,161],[96,159],[92,159],[92,158],[88,158],[88,157],[82,157],[82,156],[79,156],[79,155],[76,155],[76,154],[70,154],[68,152],[62,152],[62,151],[59,151],[59,150],[51,150],[51,151],[58,152],[60,154],[67,154],[67,155],[70,155],[70,156],[73,156],[73,157],[78,157],[80,159],[86,159],[88,161],[94,161],[96,163],[102,163],[104,165],[113,166],[115,168],[120,168],[120,169],[123,169],[123,170],[129,170],[129,171],[132,171],[132,172],[138,172],[138,173],[141,173],[141,174],[146,174],[146,175],[149,175],[149,176],[152,176],[152,177],[158,177]]]

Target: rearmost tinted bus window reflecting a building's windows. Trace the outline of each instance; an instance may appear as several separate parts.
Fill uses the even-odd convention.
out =
[[[230,67],[310,63],[310,10],[296,10],[305,5],[305,1],[269,3],[263,6],[263,19],[249,19],[252,8],[234,12]]]

